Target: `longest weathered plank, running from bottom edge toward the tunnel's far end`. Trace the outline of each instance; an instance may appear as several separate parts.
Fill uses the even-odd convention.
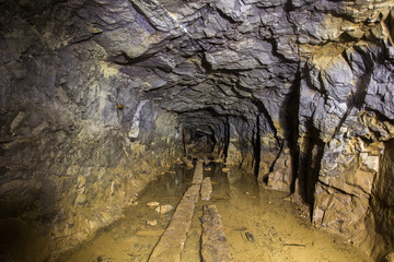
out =
[[[198,201],[202,180],[202,162],[198,160],[193,184],[177,205],[169,227],[154,247],[149,262],[178,262],[184,249],[187,231],[190,228],[193,213]],[[198,181],[200,181],[198,183]]]

